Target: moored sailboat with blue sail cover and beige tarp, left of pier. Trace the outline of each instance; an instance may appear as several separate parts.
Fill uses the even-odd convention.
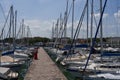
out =
[[[16,58],[16,54],[15,53],[15,39],[16,39],[16,19],[17,19],[17,11],[15,11],[15,15],[14,15],[14,11],[13,11],[13,6],[10,7],[10,11],[8,13],[8,17],[10,16],[10,27],[9,27],[9,31],[8,31],[8,35],[9,38],[11,38],[13,40],[13,43],[8,45],[8,47],[10,47],[9,49],[5,49],[5,43],[4,43],[4,38],[2,39],[3,41],[3,48],[4,50],[1,53],[1,58],[0,58],[0,66],[1,67],[8,67],[8,68],[13,68],[13,67],[20,67],[20,65],[23,65],[25,63],[24,60],[19,60]],[[8,19],[8,18],[7,18]],[[4,27],[2,29],[2,31],[5,30],[5,26],[7,23],[7,19],[6,22],[4,24]],[[11,36],[11,32],[12,32],[12,36]],[[1,37],[3,36],[3,32],[1,33]],[[15,53],[15,54],[14,54]]]

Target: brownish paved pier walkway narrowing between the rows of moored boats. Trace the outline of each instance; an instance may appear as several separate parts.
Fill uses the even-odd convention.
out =
[[[24,80],[67,80],[43,48],[38,50],[39,60],[34,60]]]

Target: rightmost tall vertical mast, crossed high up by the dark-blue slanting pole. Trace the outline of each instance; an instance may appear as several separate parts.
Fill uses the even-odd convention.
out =
[[[100,0],[100,15],[102,14],[102,0]],[[102,61],[102,54],[103,54],[103,26],[102,26],[102,19],[100,24],[100,44],[101,44],[101,61]]]

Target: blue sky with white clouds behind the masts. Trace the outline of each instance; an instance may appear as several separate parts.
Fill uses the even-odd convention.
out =
[[[103,0],[103,4],[104,4]],[[74,32],[78,24],[79,18],[83,11],[86,0],[75,0],[75,18],[74,18]],[[69,0],[69,7],[72,0]],[[5,15],[7,15],[11,5],[14,6],[14,10],[18,11],[18,23],[19,28],[22,19],[25,21],[25,25],[31,29],[32,36],[51,37],[52,24],[56,23],[60,14],[64,14],[66,7],[66,0],[0,0],[0,4],[4,9]],[[89,0],[89,13],[91,10],[91,0]],[[99,22],[99,0],[94,0],[94,16],[97,23]],[[3,26],[4,18],[0,8],[0,28]],[[90,17],[90,14],[89,14]],[[90,18],[89,18],[90,19]],[[90,21],[90,20],[89,20]],[[103,16],[103,34],[104,36],[119,36],[120,35],[120,0],[108,0],[107,7]],[[90,24],[89,24],[90,26]],[[95,33],[96,26],[94,22]],[[119,35],[118,35],[119,34]],[[68,20],[67,36],[71,35],[71,14]],[[86,37],[86,19],[83,21],[83,27],[80,31],[80,37]]]

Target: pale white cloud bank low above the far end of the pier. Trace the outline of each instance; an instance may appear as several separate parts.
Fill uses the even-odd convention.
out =
[[[25,24],[30,26],[33,36],[51,37],[53,21],[25,20]]]

